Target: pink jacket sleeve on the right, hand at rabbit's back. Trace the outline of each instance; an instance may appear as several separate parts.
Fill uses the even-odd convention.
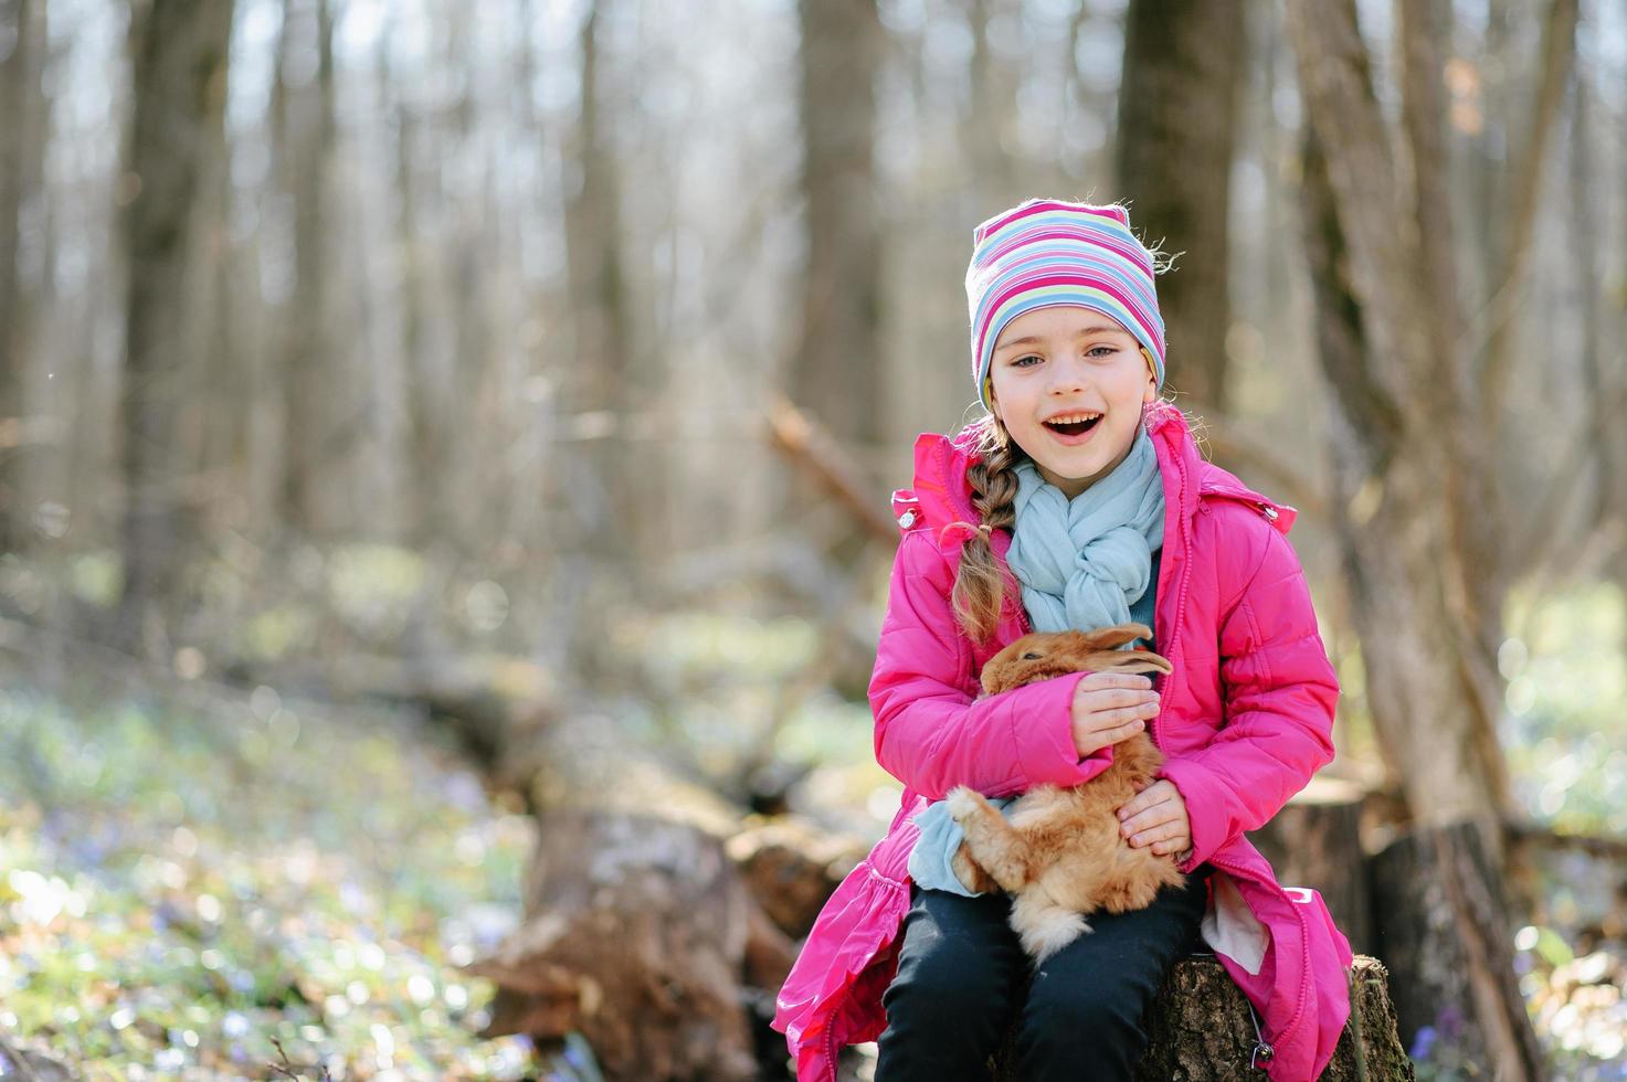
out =
[[[1333,761],[1339,680],[1292,545],[1267,530],[1266,553],[1220,626],[1225,721],[1214,739],[1158,771],[1181,791],[1191,872],[1222,844],[1266,823]]]

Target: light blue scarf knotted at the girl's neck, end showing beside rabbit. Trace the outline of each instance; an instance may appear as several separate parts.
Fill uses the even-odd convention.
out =
[[[1072,500],[1023,462],[1015,514],[1005,561],[1022,584],[1035,631],[1128,623],[1131,605],[1152,582],[1152,553],[1163,545],[1163,477],[1152,438],[1137,430],[1124,460]],[[1004,809],[1012,801],[991,802]],[[909,853],[909,879],[923,888],[976,897],[950,867],[965,835],[944,802],[929,804],[914,823],[921,836]]]

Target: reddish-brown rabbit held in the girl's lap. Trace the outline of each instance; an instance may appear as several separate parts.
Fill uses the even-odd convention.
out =
[[[983,667],[983,688],[999,693],[1069,672],[1170,672],[1170,662],[1144,649],[1113,649],[1152,638],[1139,623],[1098,631],[1025,635]],[[949,814],[966,831],[955,853],[955,875],[970,888],[996,887],[1012,895],[1010,926],[1036,962],[1074,942],[1090,926],[1085,916],[1126,913],[1152,905],[1163,885],[1183,875],[1168,856],[1136,849],[1119,838],[1116,809],[1145,789],[1163,753],[1145,732],[1113,745],[1113,765],[1072,786],[1035,786],[1009,809],[1010,818],[975,789],[950,791]]]

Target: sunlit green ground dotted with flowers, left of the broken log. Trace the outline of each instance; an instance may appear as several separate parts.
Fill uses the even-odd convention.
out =
[[[519,913],[530,822],[387,716],[0,693],[0,1027],[98,1077],[514,1079],[457,965]],[[317,1066],[321,1064],[321,1067]]]

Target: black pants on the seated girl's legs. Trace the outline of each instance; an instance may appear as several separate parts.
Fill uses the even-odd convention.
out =
[[[1129,1082],[1147,1049],[1141,1019],[1170,966],[1202,949],[1209,866],[1145,910],[1095,913],[1093,929],[1045,960],[1025,1002],[1028,957],[1005,923],[1010,898],[911,888],[898,976],[882,996],[877,1082],[988,1079],[988,1058],[1020,1019],[1025,1082]]]

